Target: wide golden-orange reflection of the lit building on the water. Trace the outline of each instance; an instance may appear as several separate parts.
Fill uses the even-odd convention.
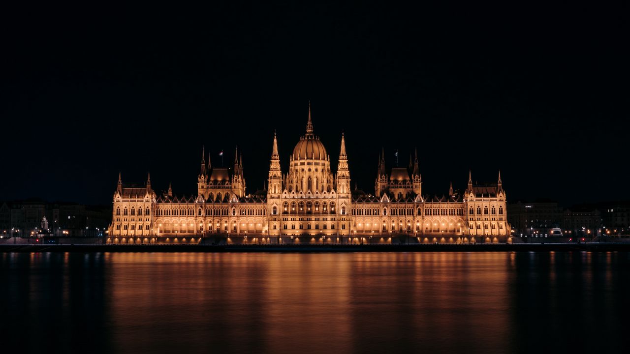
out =
[[[115,253],[114,343],[160,350],[506,348],[507,253]],[[484,338],[484,343],[478,339]]]

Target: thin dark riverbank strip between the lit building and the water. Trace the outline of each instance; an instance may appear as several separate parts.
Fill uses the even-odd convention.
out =
[[[0,252],[544,252],[630,251],[627,243],[554,244],[328,244],[310,245],[168,245],[168,244],[0,244]]]

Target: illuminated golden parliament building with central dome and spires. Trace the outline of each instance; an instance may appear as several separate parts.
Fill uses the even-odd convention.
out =
[[[496,183],[463,193],[422,194],[418,154],[408,168],[386,169],[379,157],[374,193],[352,190],[341,134],[335,173],[330,156],[314,135],[311,108],[306,134],[280,168],[274,134],[266,190],[248,193],[242,159],[234,168],[213,168],[205,153],[197,195],[157,195],[151,176],[142,185],[122,183],[113,195],[113,244],[398,244],[505,243],[510,238],[501,174]]]

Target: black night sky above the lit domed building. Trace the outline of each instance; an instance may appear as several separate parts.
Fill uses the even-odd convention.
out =
[[[627,199],[627,10],[6,9],[0,200],[107,204],[118,171],[195,193],[202,146],[215,166],[238,146],[255,191],[274,129],[286,171],[309,100],[333,169],[344,130],[352,185],[366,191],[382,147],[389,168],[417,146],[425,193],[501,169],[508,201]]]

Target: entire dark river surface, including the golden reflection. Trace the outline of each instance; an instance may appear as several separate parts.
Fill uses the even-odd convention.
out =
[[[630,343],[628,253],[2,253],[0,267],[0,336],[25,353]]]

